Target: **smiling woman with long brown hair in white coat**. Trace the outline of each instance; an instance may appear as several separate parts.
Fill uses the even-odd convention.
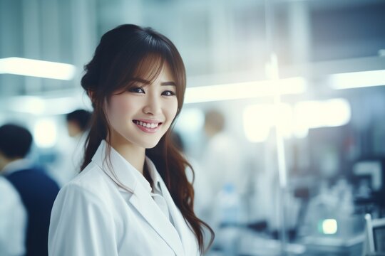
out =
[[[81,174],[53,205],[49,255],[200,255],[190,166],[170,143],[185,68],[173,43],[122,25],[101,38],[81,85],[93,122]]]

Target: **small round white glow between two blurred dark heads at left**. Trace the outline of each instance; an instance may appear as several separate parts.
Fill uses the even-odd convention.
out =
[[[57,129],[52,119],[40,119],[34,126],[34,139],[37,146],[50,148],[56,144]]]

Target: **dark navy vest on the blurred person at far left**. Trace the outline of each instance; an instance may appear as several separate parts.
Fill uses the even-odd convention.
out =
[[[36,167],[12,171],[5,177],[19,192],[28,215],[26,256],[48,256],[48,229],[58,184]]]

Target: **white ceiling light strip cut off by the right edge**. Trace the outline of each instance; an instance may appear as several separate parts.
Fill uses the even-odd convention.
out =
[[[371,70],[330,75],[330,87],[349,89],[385,85],[385,70]]]

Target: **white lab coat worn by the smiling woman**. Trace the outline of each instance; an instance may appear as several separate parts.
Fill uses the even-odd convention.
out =
[[[111,149],[111,166],[102,142],[90,164],[58,193],[51,213],[51,256],[199,255],[197,240],[160,178],[170,220],[133,175],[137,171]],[[133,193],[118,186],[117,181]]]

